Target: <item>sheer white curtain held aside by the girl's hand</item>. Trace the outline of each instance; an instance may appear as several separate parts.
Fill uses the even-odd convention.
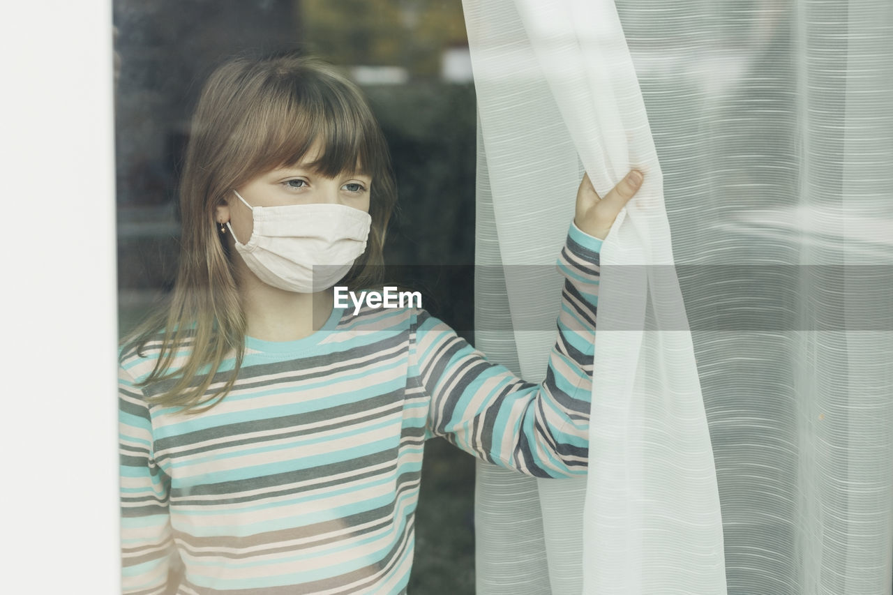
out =
[[[601,253],[589,475],[479,465],[480,595],[889,593],[893,3],[463,7],[506,265],[479,348],[539,379],[582,166],[646,172]]]

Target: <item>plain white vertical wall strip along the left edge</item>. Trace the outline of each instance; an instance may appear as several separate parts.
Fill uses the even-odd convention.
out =
[[[112,6],[7,3],[0,40],[4,592],[120,592]]]

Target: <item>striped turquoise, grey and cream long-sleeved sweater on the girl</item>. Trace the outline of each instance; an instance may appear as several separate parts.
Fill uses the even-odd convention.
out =
[[[122,353],[123,591],[405,593],[432,436],[537,477],[585,474],[600,247],[571,226],[539,385],[421,308],[335,308],[305,339],[246,337],[235,387],[199,415],[146,402],[157,344]]]

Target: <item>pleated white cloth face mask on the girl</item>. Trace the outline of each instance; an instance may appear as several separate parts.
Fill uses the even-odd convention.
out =
[[[298,293],[329,289],[366,249],[372,218],[352,206],[252,206],[238,192],[236,196],[251,209],[255,222],[247,244],[233,233],[236,250],[268,285]],[[232,233],[230,222],[227,227]]]

